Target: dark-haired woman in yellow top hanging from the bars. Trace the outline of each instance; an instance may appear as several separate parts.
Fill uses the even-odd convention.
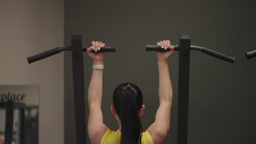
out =
[[[123,83],[114,90],[111,111],[118,121],[119,129],[112,131],[103,123],[101,111],[102,77],[104,53],[95,53],[105,44],[92,41],[87,49],[88,55],[94,61],[92,76],[88,91],[89,121],[88,133],[91,143],[101,144],[158,144],[164,143],[170,128],[172,106],[172,84],[168,69],[168,58],[173,55],[174,47],[170,40],[157,43],[166,52],[158,52],[159,69],[159,102],[155,122],[143,132],[140,116],[145,106],[141,90],[133,83]]]

